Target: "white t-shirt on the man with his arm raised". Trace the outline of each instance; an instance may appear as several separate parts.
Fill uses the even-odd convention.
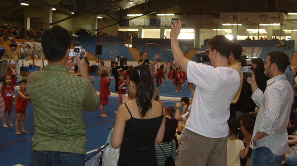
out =
[[[231,67],[206,66],[189,61],[188,81],[196,85],[186,128],[205,137],[228,136],[230,104],[240,86],[239,73]]]

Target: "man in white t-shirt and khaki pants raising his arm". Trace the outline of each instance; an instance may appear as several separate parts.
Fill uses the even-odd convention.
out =
[[[196,85],[191,113],[183,130],[178,166],[226,166],[229,107],[240,86],[239,73],[229,67],[232,42],[222,35],[210,39],[212,66],[185,58],[177,38],[182,23],[171,25],[171,48],[176,63]]]

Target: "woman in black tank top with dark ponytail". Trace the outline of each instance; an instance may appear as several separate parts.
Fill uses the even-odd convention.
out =
[[[117,111],[111,137],[113,148],[120,149],[118,166],[158,166],[154,143],[164,136],[163,106],[152,100],[153,77],[145,66],[136,66],[130,73],[129,91],[134,101]]]

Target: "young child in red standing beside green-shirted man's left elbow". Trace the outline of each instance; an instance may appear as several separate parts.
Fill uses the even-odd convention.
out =
[[[16,120],[15,120],[15,134],[21,135],[22,133],[29,133],[25,130],[25,115],[26,108],[30,97],[26,94],[27,80],[20,81],[20,90],[17,93],[16,98]],[[21,124],[21,132],[18,130],[19,123]]]

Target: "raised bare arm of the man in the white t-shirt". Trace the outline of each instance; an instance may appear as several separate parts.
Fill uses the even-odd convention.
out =
[[[180,20],[175,21],[174,24],[171,24],[170,40],[171,40],[171,49],[175,62],[187,73],[188,62],[182,50],[179,47],[178,36],[181,32],[182,22]]]

